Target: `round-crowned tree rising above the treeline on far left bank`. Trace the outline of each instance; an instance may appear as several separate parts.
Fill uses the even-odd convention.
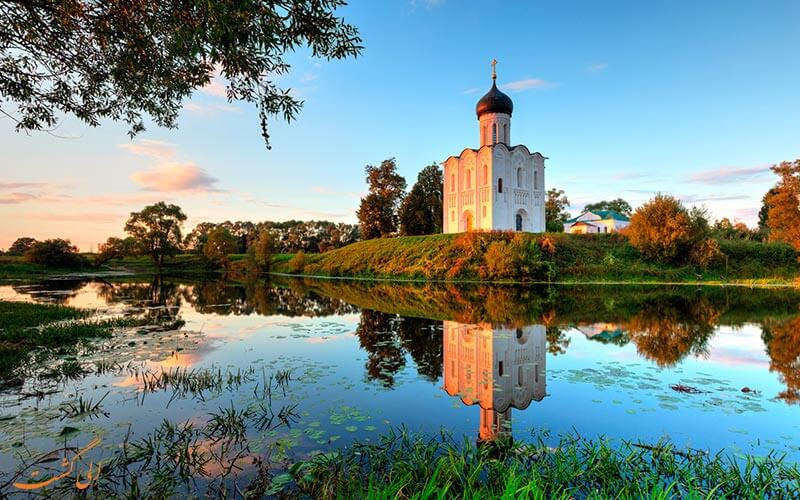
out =
[[[186,215],[181,207],[159,201],[132,212],[125,223],[125,232],[136,242],[137,253],[148,255],[157,268],[167,257],[174,257],[181,247],[181,226]]]

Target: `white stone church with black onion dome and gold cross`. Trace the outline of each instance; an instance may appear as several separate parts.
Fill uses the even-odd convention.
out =
[[[494,63],[493,63],[494,65]],[[522,145],[511,146],[511,98],[492,88],[478,101],[480,147],[444,162],[445,233],[473,230],[543,232],[544,161]]]

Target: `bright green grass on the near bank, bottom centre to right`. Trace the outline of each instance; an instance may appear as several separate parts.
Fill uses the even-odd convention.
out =
[[[797,498],[800,469],[779,456],[737,460],[666,442],[459,445],[399,431],[296,463],[276,482],[299,498]]]

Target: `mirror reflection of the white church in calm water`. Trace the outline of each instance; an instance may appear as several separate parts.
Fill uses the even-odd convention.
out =
[[[480,411],[478,441],[511,433],[511,409],[545,396],[544,325],[444,322],[444,389]]]

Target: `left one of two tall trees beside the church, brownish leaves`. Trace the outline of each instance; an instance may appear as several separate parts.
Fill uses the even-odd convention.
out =
[[[394,158],[384,160],[378,167],[367,165],[364,172],[369,194],[361,198],[356,211],[361,237],[369,240],[397,233],[398,211],[405,195],[406,180],[397,173]]]

